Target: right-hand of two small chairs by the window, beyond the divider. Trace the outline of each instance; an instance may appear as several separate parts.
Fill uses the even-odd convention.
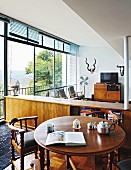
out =
[[[82,94],[82,92],[75,92],[74,86],[69,86],[68,91],[70,98],[77,98],[79,100],[84,98],[84,94]]]

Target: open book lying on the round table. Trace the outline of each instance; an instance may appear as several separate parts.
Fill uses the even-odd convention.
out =
[[[47,135],[46,144],[65,144],[66,146],[86,145],[83,132],[55,131]]]

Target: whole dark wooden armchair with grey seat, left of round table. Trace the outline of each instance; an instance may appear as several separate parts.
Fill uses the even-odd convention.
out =
[[[15,161],[20,158],[20,170],[24,170],[24,156],[35,153],[37,158],[38,145],[34,139],[34,129],[37,127],[37,116],[14,118],[9,122],[11,130],[11,164],[15,169]],[[28,125],[30,123],[30,127]],[[16,156],[15,152],[18,152]]]

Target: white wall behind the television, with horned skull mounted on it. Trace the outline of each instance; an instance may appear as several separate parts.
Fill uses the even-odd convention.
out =
[[[90,64],[91,67],[92,64],[94,63],[94,58],[96,59],[96,70],[93,74],[91,74],[87,70],[85,58],[88,59],[88,63]],[[79,63],[80,65],[79,65],[78,77],[83,75],[89,77],[89,84],[86,86],[86,97],[91,98],[92,94],[94,94],[94,84],[96,82],[100,82],[100,72],[118,72],[119,83],[122,83],[121,95],[123,99],[124,76],[120,76],[120,69],[118,69],[116,66],[123,65],[124,60],[110,46],[106,46],[106,47],[82,47],[81,46]],[[80,89],[83,90],[83,87],[80,87]]]

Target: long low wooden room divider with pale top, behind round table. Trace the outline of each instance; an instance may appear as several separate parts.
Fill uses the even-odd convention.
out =
[[[80,115],[80,108],[97,108],[127,112],[131,114],[131,104],[129,110],[124,110],[123,103],[84,101],[73,99],[59,99],[52,97],[19,95],[5,96],[5,119],[10,121],[14,117],[37,115],[38,124],[48,119],[60,116]]]

